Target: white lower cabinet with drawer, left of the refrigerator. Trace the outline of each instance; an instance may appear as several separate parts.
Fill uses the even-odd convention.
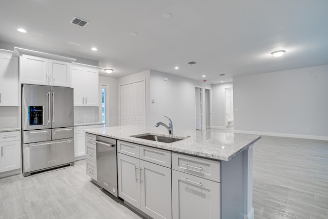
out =
[[[0,173],[20,169],[19,131],[0,133]]]

